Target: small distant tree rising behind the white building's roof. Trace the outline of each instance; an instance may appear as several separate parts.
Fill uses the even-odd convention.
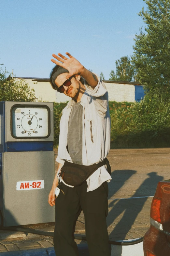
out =
[[[113,70],[110,72],[109,80],[115,81],[132,81],[134,78],[134,68],[128,56],[123,56],[116,60],[116,73]]]

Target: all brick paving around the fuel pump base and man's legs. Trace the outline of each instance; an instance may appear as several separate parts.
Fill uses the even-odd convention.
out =
[[[107,226],[109,240],[140,238],[150,226],[151,198],[108,200],[109,213]],[[38,229],[38,228],[37,228]],[[51,231],[51,227],[50,227]],[[85,234],[84,215],[81,212],[76,224],[77,234]],[[9,235],[10,236],[10,235]],[[77,244],[85,243],[76,240]],[[20,237],[1,239],[0,253],[16,250],[28,250],[53,247],[53,238],[37,235],[36,237]]]

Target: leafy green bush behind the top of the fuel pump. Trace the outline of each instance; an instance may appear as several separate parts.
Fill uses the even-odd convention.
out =
[[[3,65],[3,64],[0,64]],[[33,102],[35,98],[34,89],[30,88],[23,80],[15,80],[12,77],[7,77],[6,68],[3,71],[0,68],[0,101],[24,101]]]

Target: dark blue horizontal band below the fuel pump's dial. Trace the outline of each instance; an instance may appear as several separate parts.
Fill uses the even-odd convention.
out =
[[[53,151],[53,141],[6,142],[4,152]]]

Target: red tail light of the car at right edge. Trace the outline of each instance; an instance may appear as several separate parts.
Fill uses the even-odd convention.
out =
[[[161,223],[161,216],[160,216],[161,198],[162,198],[161,188],[160,188],[160,183],[158,183],[155,196],[152,200],[152,204],[150,208],[150,217],[159,223]]]

